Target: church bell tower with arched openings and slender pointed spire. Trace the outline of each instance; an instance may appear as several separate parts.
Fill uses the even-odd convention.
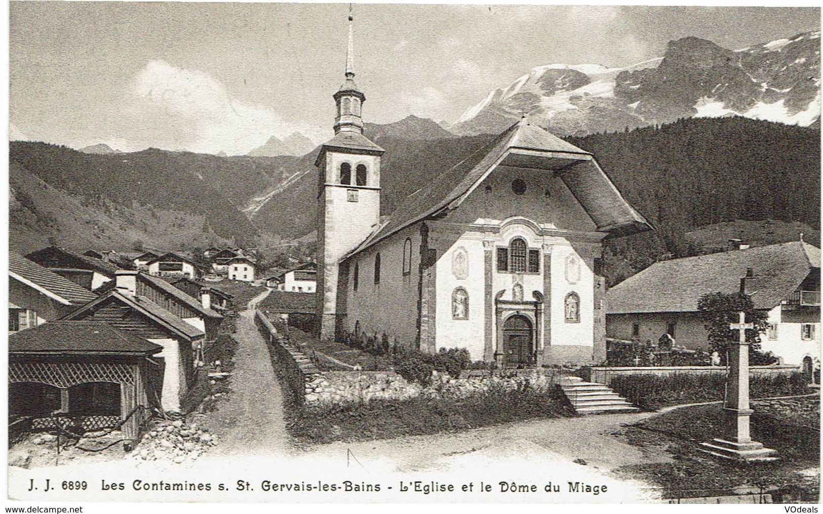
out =
[[[345,312],[345,290],[338,294],[340,259],[362,243],[380,219],[384,150],[363,135],[365,95],[354,80],[353,21],[350,7],[346,80],[333,95],[334,137],[323,144],[314,163],[319,178],[317,313],[323,340],[335,337]]]

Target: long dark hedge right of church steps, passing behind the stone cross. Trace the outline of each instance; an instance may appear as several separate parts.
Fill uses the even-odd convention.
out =
[[[721,373],[675,373],[617,375],[609,386],[626,400],[645,410],[665,405],[721,401],[726,391],[726,377]],[[752,398],[802,395],[809,392],[801,373],[754,375],[749,380]]]

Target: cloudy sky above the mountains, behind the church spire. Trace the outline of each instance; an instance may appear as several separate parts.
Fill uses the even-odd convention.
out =
[[[11,2],[10,137],[239,155],[332,135],[348,4]],[[366,122],[455,122],[532,67],[623,67],[686,36],[820,30],[818,8],[354,4]]]

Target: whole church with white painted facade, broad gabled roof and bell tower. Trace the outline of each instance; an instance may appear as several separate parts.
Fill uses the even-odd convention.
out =
[[[352,16],[334,136],[318,155],[319,336],[505,368],[606,359],[604,238],[651,229],[594,156],[523,117],[380,219]]]

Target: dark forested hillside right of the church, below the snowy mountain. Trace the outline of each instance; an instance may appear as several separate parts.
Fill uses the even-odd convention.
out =
[[[821,133],[748,118],[691,118],[663,127],[568,138],[588,150],[657,228],[607,247],[610,284],[661,258],[700,252],[686,232],[734,220],[820,229]]]

